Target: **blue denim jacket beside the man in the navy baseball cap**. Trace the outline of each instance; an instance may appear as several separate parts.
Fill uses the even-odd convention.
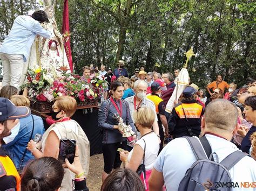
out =
[[[32,139],[35,137],[36,133],[43,135],[44,133],[44,123],[41,117],[33,115],[35,120],[34,131],[32,135]],[[8,153],[11,160],[14,162],[15,167],[19,170],[19,165],[21,164],[21,158],[25,151],[26,146],[28,145],[29,138],[32,133],[33,122],[31,115],[25,118],[19,119],[20,128],[18,135],[15,139],[6,144],[2,145],[4,150]],[[26,155],[22,164],[22,168],[26,165],[26,163],[30,160],[34,159],[33,155],[30,151],[26,151]]]

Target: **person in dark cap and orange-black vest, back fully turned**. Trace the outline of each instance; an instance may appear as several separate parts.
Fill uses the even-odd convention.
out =
[[[181,103],[174,106],[168,121],[169,133],[173,138],[183,136],[199,137],[204,107],[197,102],[196,92],[197,90],[193,87],[186,87],[183,90]]]

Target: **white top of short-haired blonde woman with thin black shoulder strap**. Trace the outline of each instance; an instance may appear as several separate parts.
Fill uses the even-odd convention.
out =
[[[151,132],[145,136],[143,136],[141,139],[139,139],[136,144],[138,144],[140,147],[142,147],[144,151],[145,143],[143,141],[145,140],[146,143],[146,151],[145,151],[145,162],[144,165],[146,167],[146,171],[150,170],[154,166],[154,161],[157,159],[157,154],[159,151],[159,141],[156,133]],[[133,153],[133,149],[128,155],[127,160],[130,162],[131,156]],[[140,162],[140,164],[143,164],[143,160]]]

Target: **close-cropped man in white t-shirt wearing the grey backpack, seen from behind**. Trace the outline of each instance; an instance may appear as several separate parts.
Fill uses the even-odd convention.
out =
[[[207,105],[201,121],[201,135],[207,138],[212,153],[218,155],[219,162],[238,148],[230,142],[239,129],[238,111],[227,100],[215,100]],[[214,154],[214,160],[216,161]],[[167,144],[154,164],[149,180],[150,190],[161,190],[164,183],[167,190],[178,190],[179,183],[186,171],[196,162],[196,157],[185,138],[176,138]],[[232,182],[238,182],[239,188],[233,190],[253,190],[241,187],[241,182],[256,181],[256,161],[251,157],[242,158],[230,169]],[[207,179],[207,177],[206,177]],[[225,188],[223,188],[225,190]]]

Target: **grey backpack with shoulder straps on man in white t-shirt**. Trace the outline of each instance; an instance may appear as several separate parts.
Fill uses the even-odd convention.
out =
[[[211,146],[205,136],[199,139],[203,148],[196,137],[184,138],[190,144],[197,161],[187,169],[178,190],[232,190],[229,170],[247,154],[235,151],[219,163],[213,160]]]

